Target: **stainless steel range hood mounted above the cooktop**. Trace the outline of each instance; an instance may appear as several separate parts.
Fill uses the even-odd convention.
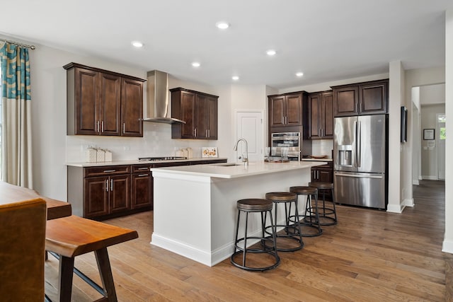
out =
[[[167,116],[168,74],[159,70],[148,71],[147,79],[147,115],[143,121],[164,124],[185,124],[183,120]]]

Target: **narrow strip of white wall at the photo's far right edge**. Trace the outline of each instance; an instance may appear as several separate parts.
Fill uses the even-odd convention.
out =
[[[453,117],[453,8],[445,13],[445,114]],[[445,123],[446,132],[453,133],[453,123]],[[445,154],[453,153],[453,139],[447,137]],[[442,251],[453,253],[453,159],[445,158],[445,237]]]

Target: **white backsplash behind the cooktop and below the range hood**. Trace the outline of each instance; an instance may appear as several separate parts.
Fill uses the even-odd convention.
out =
[[[147,156],[176,156],[182,148],[192,148],[193,157],[201,158],[202,147],[216,146],[217,141],[196,139],[171,139],[171,125],[144,122],[143,137],[101,137],[68,135],[66,137],[67,163],[85,161],[88,146],[108,149],[113,161],[133,161]],[[222,157],[222,151],[219,150]],[[226,156],[225,156],[226,157]]]

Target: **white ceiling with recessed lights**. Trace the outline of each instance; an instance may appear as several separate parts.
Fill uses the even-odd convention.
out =
[[[238,83],[274,88],[383,74],[395,60],[405,69],[445,65],[445,10],[453,7],[452,0],[2,2],[6,37],[208,85],[238,75]],[[219,30],[217,21],[231,27]],[[265,54],[271,48],[275,57]]]

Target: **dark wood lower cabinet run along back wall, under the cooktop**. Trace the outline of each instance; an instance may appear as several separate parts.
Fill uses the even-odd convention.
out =
[[[154,181],[151,168],[226,163],[226,159],[68,166],[68,202],[74,215],[102,220],[153,209]]]

